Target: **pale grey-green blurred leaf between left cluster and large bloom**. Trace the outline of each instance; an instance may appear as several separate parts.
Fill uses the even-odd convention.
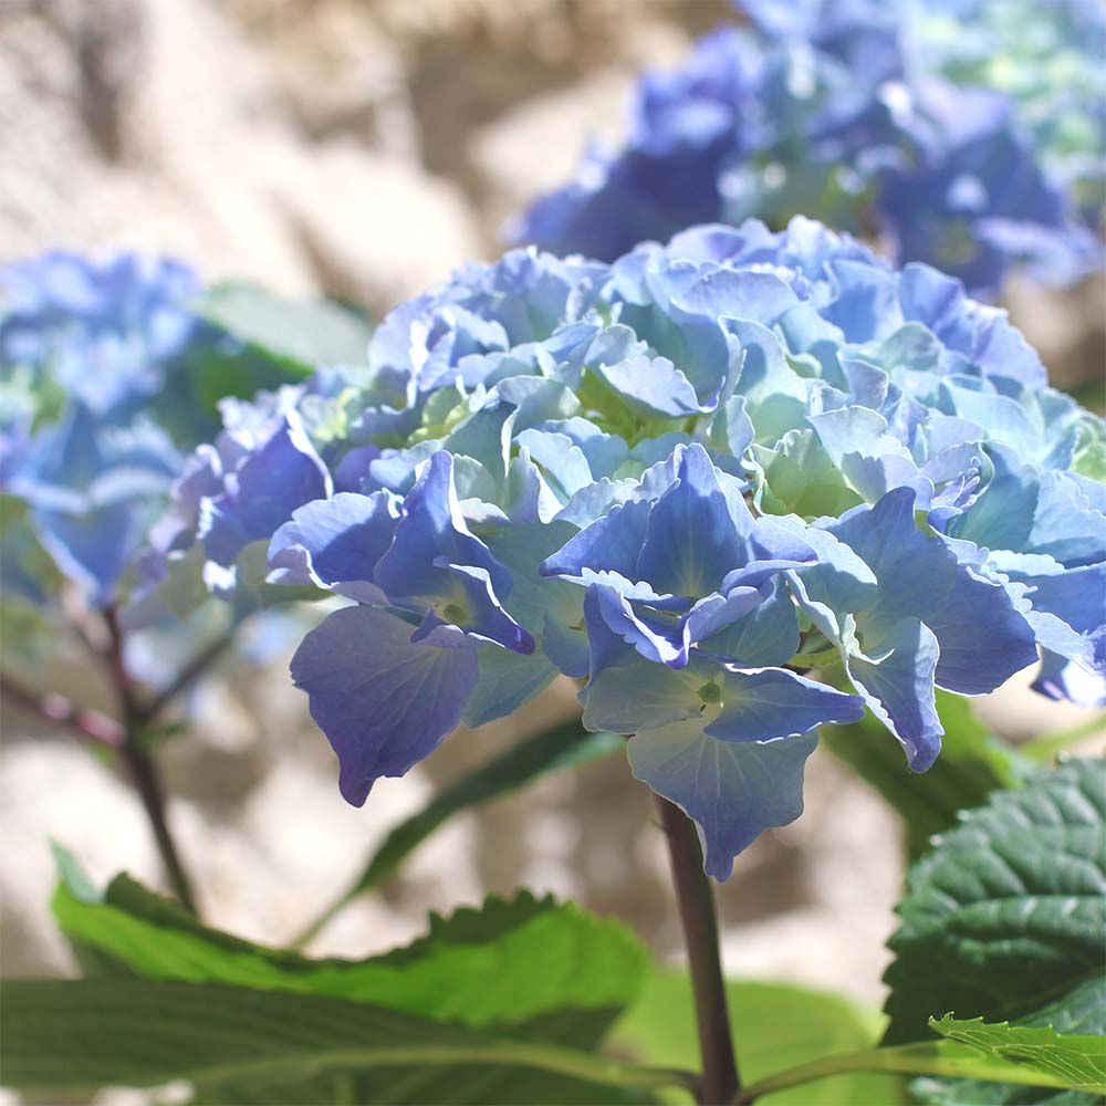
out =
[[[249,283],[217,284],[196,313],[246,345],[293,368],[359,365],[371,330],[363,316],[324,300],[285,300]]]

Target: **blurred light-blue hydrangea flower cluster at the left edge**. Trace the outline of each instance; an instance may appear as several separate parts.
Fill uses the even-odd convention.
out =
[[[53,252],[0,273],[0,488],[25,512],[4,525],[6,587],[44,598],[31,571],[44,549],[87,602],[118,597],[179,447],[210,432],[177,371],[197,291],[182,265],[134,254]]]

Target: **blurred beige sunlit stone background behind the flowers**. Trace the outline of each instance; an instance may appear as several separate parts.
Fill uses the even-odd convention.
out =
[[[589,136],[618,138],[635,74],[678,63],[732,19],[723,0],[0,0],[0,263],[139,248],[206,281],[325,293],[378,319],[494,257],[503,219],[563,181]],[[1009,305],[1057,383],[1092,406],[1097,387],[1100,405],[1102,284],[1015,286]],[[263,661],[197,687],[188,731],[158,757],[205,919],[262,941],[302,929],[436,787],[574,708],[574,689],[555,686],[510,721],[462,730],[358,811],[288,678],[290,647],[254,645]],[[1000,734],[1093,717],[1029,681],[978,701]],[[111,707],[76,659],[44,682]],[[126,868],[164,886],[156,853],[106,762],[12,705],[2,723],[2,970],[72,971],[49,915],[50,839],[98,880]],[[1106,749],[1106,732],[1085,748]],[[878,1002],[898,822],[827,754],[811,762],[806,803],[720,890],[727,967]],[[379,951],[419,932],[428,909],[525,885],[618,915],[676,956],[651,812],[620,758],[546,779],[456,821],[311,950]]]

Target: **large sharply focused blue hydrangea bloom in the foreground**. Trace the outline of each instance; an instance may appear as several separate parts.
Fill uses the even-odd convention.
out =
[[[1046,695],[1106,689],[1103,422],[1003,312],[806,219],[468,267],[364,378],[227,414],[174,555],[346,601],[292,675],[353,803],[563,674],[724,878],[820,724],[870,709],[924,771],[935,687],[1041,647]]]

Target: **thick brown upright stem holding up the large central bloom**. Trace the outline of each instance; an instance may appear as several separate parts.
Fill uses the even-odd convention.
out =
[[[668,839],[676,901],[691,967],[696,1025],[702,1057],[699,1102],[702,1106],[719,1106],[738,1094],[741,1083],[726,1004],[714,895],[702,869],[702,851],[695,826],[678,806],[659,795],[656,800],[661,828]]]

